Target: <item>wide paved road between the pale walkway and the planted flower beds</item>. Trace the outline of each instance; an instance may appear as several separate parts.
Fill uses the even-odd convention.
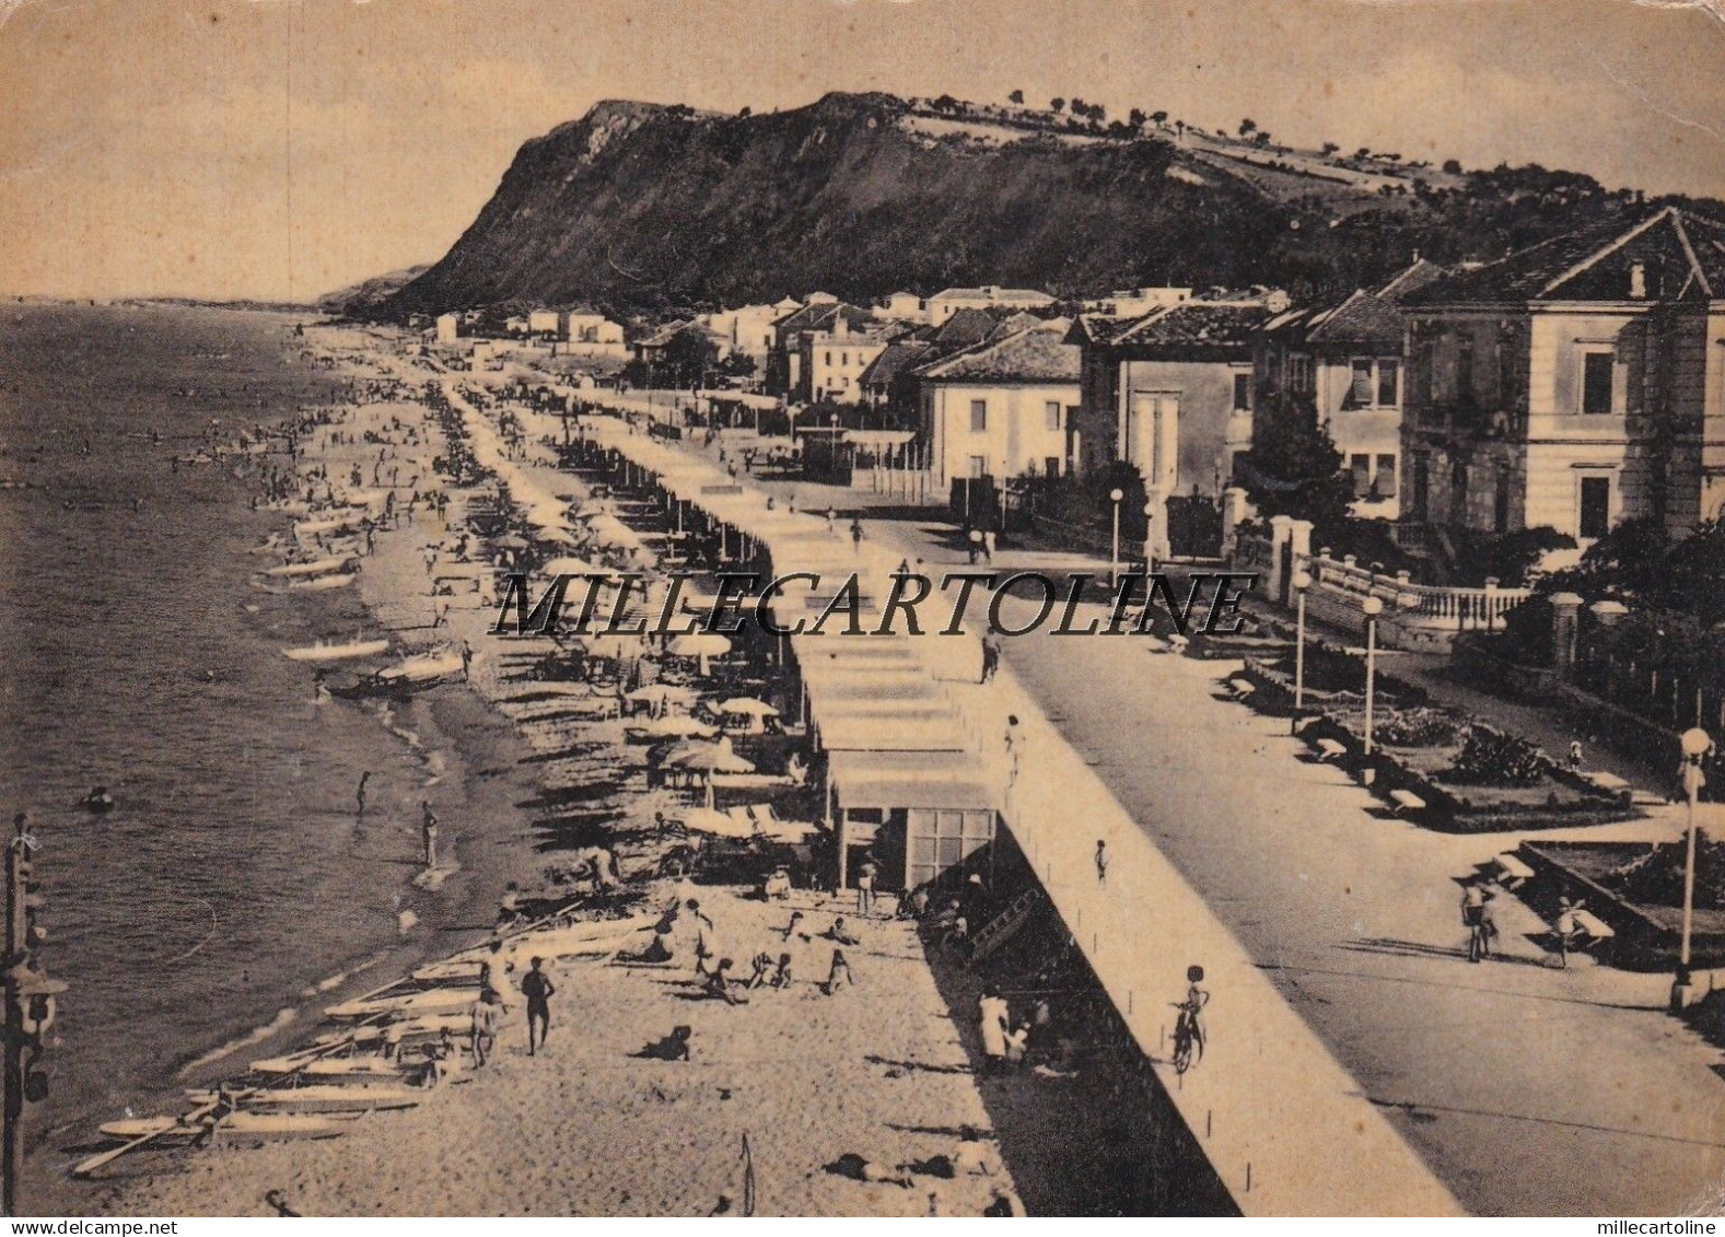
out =
[[[952,557],[926,526],[881,521],[869,535],[930,564]],[[1007,554],[997,566],[1021,564]],[[1302,759],[1285,721],[1218,699],[1220,664],[1137,638],[1030,637],[1004,656],[1465,1206],[1716,1209],[1720,1056],[1661,1013],[1668,980],[1549,966],[1530,939],[1544,925],[1520,904],[1502,916],[1508,956],[1465,959],[1454,876],[1520,835],[1449,837],[1387,818],[1339,769]]]

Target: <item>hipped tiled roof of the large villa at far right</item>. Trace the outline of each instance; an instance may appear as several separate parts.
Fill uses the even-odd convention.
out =
[[[1725,224],[1665,207],[1639,223],[1606,221],[1437,279],[1408,305],[1630,300],[1640,266],[1647,300],[1725,295]]]

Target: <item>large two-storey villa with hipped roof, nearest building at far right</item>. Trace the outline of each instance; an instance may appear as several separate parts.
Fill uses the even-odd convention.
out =
[[[1582,545],[1725,502],[1725,226],[1668,207],[1406,298],[1402,518]]]

